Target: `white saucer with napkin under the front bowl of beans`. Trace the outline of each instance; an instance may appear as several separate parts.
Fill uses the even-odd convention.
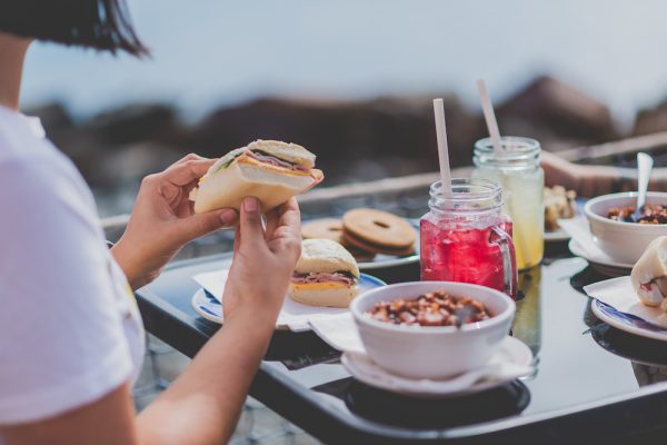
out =
[[[459,386],[452,389],[451,380],[414,379],[394,375],[376,365],[366,354],[346,352],[340,362],[352,377],[366,385],[392,393],[425,398],[455,397],[479,393],[504,385],[515,378],[527,376],[534,372],[530,348],[524,342],[510,336],[507,336],[502,340],[498,352],[491,357],[489,364],[508,363],[520,367],[529,367],[529,372],[521,373],[521,375],[515,374],[511,376],[504,375],[495,378],[482,378],[465,388]],[[455,379],[461,376],[457,376]]]

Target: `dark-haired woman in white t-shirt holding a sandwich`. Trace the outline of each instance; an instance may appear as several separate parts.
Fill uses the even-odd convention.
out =
[[[213,162],[196,155],[143,180],[125,235],[106,247],[89,188],[39,121],[18,111],[19,87],[34,38],[145,55],[122,7],[0,4],[0,444],[223,443],[299,256],[295,200],[269,212],[266,228],[251,197],[240,215],[193,215],[188,192]],[[130,388],[143,332],[130,286],[150,283],[186,243],[237,219],[225,326],[136,416]]]

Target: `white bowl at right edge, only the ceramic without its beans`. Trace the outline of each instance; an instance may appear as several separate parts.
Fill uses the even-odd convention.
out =
[[[667,192],[649,191],[648,204],[667,204]],[[613,207],[627,207],[637,204],[637,192],[603,195],[590,199],[584,206],[595,244],[611,259],[635,264],[650,241],[667,235],[667,224],[636,224],[615,221],[607,218]]]

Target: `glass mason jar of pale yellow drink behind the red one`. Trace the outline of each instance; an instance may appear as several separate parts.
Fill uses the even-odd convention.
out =
[[[527,269],[545,253],[545,172],[539,165],[540,145],[530,138],[505,136],[502,149],[489,138],[475,144],[472,177],[491,179],[502,187],[504,211],[514,222],[517,267]]]

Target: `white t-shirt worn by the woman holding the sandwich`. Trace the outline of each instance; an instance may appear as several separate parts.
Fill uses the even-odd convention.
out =
[[[0,426],[133,382],[143,338],[83,178],[39,119],[0,107]]]

